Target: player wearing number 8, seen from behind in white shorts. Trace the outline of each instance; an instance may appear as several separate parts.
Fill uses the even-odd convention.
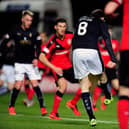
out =
[[[106,48],[112,60],[111,66],[114,67],[116,58],[112,50],[105,16],[102,10],[96,9],[90,15],[79,18],[72,45],[75,78],[80,80],[81,97],[91,126],[96,126],[96,118],[91,106],[90,87],[94,85],[93,83],[97,84],[104,72],[104,65],[98,48],[99,36],[105,40]],[[101,82],[105,82],[105,79],[101,78]]]

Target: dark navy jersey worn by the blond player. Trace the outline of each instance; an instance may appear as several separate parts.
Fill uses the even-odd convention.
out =
[[[4,36],[2,44],[13,39],[15,42],[15,62],[32,63],[40,53],[41,38],[34,28],[23,30],[20,25],[16,26]]]

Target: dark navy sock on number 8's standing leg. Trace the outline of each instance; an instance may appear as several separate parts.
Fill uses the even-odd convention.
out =
[[[90,120],[92,118],[95,118],[95,116],[93,114],[92,106],[91,106],[90,93],[84,92],[81,94],[81,97],[82,97],[84,107],[89,115]]]

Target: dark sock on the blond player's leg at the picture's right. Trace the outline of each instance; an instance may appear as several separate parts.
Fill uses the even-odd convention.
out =
[[[37,95],[37,98],[38,98],[38,101],[39,101],[39,104],[40,104],[40,108],[44,107],[44,103],[43,103],[44,100],[43,100],[42,92],[41,92],[39,86],[36,86],[33,89],[34,89],[34,91],[35,91],[35,93]]]

